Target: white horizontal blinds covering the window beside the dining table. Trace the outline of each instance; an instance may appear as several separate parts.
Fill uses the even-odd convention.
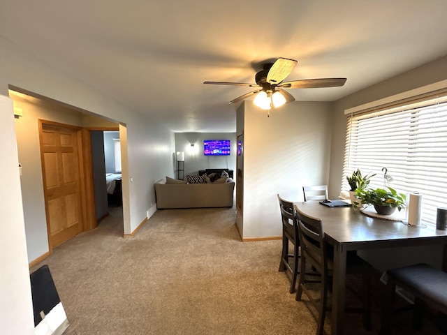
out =
[[[342,191],[346,176],[356,169],[372,178],[372,188],[384,183],[383,168],[399,193],[423,195],[422,221],[436,223],[438,207],[447,207],[447,103],[399,107],[348,117]]]

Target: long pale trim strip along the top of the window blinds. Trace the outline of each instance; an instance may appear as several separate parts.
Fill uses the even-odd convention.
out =
[[[446,89],[446,88],[447,88],[447,80],[442,80],[441,82],[435,82],[430,85],[418,87],[417,89],[411,89],[410,91],[405,91],[400,94],[395,94],[394,96],[388,96],[386,98],[372,101],[370,103],[365,103],[363,105],[348,108],[347,110],[344,110],[344,114],[345,115],[346,114],[354,114],[354,113],[360,112],[362,110],[368,110],[370,108],[380,107],[380,106],[386,105],[388,103],[395,103],[397,101],[412,98],[414,96],[420,96],[421,94],[428,94],[430,92],[437,91],[438,89]]]

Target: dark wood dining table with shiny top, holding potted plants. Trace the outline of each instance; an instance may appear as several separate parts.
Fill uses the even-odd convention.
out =
[[[447,230],[437,230],[434,225],[410,227],[402,221],[367,216],[351,207],[327,207],[318,201],[295,202],[295,206],[321,219],[325,239],[334,247],[331,334],[344,334],[348,251],[442,244],[443,270],[447,271]]]

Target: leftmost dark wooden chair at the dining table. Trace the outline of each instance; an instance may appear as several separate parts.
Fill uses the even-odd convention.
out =
[[[298,276],[298,259],[300,240],[298,239],[298,225],[293,202],[284,200],[277,194],[279,200],[279,209],[281,211],[282,221],[282,251],[281,261],[279,262],[279,271],[291,271],[290,292],[295,292],[296,279]],[[293,253],[289,252],[289,241],[293,244]],[[291,263],[291,260],[293,262]]]

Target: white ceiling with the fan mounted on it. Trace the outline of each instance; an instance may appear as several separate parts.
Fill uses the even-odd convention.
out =
[[[0,36],[175,132],[233,132],[228,101],[252,89],[205,80],[254,82],[286,57],[286,80],[346,77],[288,90],[334,101],[446,55],[446,13],[445,0],[2,0]]]

